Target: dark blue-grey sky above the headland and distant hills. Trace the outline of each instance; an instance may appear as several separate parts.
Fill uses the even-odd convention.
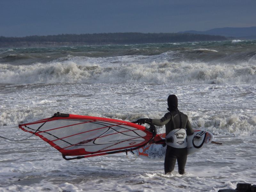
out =
[[[0,0],[0,36],[256,26],[256,0]]]

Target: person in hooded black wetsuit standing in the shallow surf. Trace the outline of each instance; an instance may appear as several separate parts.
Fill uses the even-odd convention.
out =
[[[156,126],[165,125],[165,142],[167,145],[164,159],[164,172],[173,171],[176,159],[180,174],[185,173],[187,162],[187,135],[193,135],[194,131],[188,121],[188,116],[178,109],[178,98],[176,95],[169,95],[167,99],[168,113],[161,119],[139,119],[139,124],[149,121]]]

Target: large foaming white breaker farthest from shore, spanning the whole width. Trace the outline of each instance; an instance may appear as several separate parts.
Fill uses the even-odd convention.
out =
[[[101,58],[88,62],[61,61],[34,65],[0,64],[0,82],[4,84],[37,83],[193,83],[255,84],[256,66],[248,62],[209,64],[205,62],[160,62],[147,60],[113,61]],[[140,58],[141,59],[141,58]],[[111,60],[111,62],[109,62]],[[111,63],[111,64],[110,64]]]

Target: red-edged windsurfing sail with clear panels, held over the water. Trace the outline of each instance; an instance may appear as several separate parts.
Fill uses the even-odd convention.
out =
[[[20,124],[19,128],[48,142],[66,160],[132,151],[147,145],[156,135],[153,129],[126,121],[59,112],[47,119]]]

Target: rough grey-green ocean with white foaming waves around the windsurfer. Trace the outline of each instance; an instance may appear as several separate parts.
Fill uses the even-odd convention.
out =
[[[18,124],[54,113],[125,121],[161,118],[167,97],[194,129],[214,134],[177,165],[125,153],[66,161],[39,137],[0,142],[0,190],[214,192],[256,184],[256,41],[0,49],[0,136],[29,136]],[[164,127],[157,127],[158,133]]]

